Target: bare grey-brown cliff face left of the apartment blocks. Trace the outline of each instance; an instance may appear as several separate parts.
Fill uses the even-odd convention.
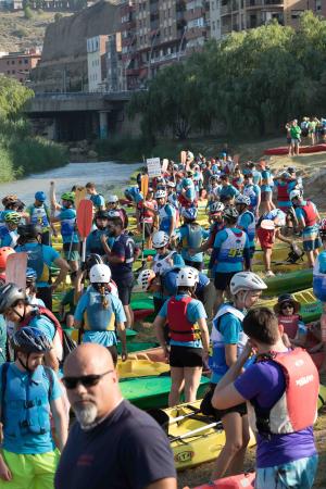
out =
[[[118,28],[118,0],[101,0],[82,12],[50,24],[39,65],[32,73],[33,88],[78,91],[87,84],[86,39]]]

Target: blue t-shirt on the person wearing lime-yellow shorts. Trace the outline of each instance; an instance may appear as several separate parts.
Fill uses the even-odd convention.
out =
[[[1,377],[1,368],[0,367],[0,391],[2,388],[2,377]],[[37,368],[43,371],[43,366],[39,365]],[[50,380],[47,374],[42,373],[42,385],[46,387],[46,390],[50,391],[51,394],[49,396],[49,402],[54,401],[55,399],[59,399],[62,396],[62,390],[59,384],[59,380],[57,378],[57,375],[54,372],[50,372],[49,375],[52,375],[52,383],[50,388]],[[51,452],[54,450],[55,444],[52,439],[51,429],[49,431],[42,434],[42,435],[36,435],[33,432],[26,432],[24,436],[16,435],[13,436],[13,431],[11,428],[11,423],[5,422],[13,417],[16,419],[26,419],[26,412],[27,410],[24,409],[24,412],[18,411],[16,405],[8,405],[8,389],[9,386],[14,379],[18,378],[21,381],[22,388],[24,388],[27,391],[27,386],[30,383],[29,375],[27,372],[22,372],[20,368],[14,364],[11,363],[9,365],[8,372],[7,372],[7,387],[5,387],[5,393],[4,393],[4,441],[2,443],[2,448],[4,450],[8,450],[9,452],[17,453],[17,454],[41,454]],[[2,397],[2,396],[1,396]],[[49,408],[50,409],[50,408]],[[28,410],[30,412],[30,415],[35,413],[37,410]],[[37,414],[37,413],[36,413]],[[49,414],[50,416],[50,414]]]

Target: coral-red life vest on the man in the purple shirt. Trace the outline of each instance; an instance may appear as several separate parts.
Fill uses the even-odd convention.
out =
[[[261,361],[265,360],[266,358]],[[267,412],[251,401],[249,404],[251,427],[261,435],[280,435],[312,426],[317,416],[319,376],[310,354],[302,348],[296,348],[287,353],[277,353],[267,360],[273,360],[281,366],[286,390]]]

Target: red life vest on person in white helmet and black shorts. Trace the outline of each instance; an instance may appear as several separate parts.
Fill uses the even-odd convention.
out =
[[[167,322],[171,339],[175,341],[195,341],[200,338],[199,328],[187,318],[187,305],[191,297],[175,297],[167,302]]]

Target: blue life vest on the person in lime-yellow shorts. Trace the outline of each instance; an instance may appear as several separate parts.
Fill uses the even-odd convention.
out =
[[[2,366],[2,419],[4,437],[24,444],[24,436],[45,435],[51,430],[50,396],[53,385],[53,373],[48,367],[38,366],[29,378],[28,385],[15,376],[10,364]],[[45,386],[45,374],[50,387]]]

